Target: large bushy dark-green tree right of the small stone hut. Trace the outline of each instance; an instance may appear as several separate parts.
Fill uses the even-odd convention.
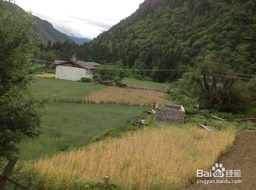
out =
[[[196,63],[197,70],[184,73],[178,84],[182,94],[196,99],[201,108],[230,112],[249,105],[252,82],[247,85],[248,82],[240,80],[214,52],[199,56]]]

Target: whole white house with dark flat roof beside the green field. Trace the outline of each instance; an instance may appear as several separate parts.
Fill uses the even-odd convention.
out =
[[[93,78],[97,68],[83,61],[55,61],[55,78],[66,80],[80,80],[83,77]]]

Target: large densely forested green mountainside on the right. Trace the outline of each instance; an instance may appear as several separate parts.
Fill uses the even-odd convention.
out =
[[[216,55],[236,72],[256,72],[255,2],[249,0],[145,0],[87,44],[88,61],[115,63],[125,68],[184,69],[199,56]],[[182,72],[145,72],[157,82],[173,80]]]

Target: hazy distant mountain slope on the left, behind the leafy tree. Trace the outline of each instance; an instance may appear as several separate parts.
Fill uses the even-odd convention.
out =
[[[8,10],[8,11],[16,11],[16,10],[20,10],[21,12],[24,12],[24,10],[22,8],[20,8],[19,6],[17,6],[14,3],[9,3],[7,1],[3,2],[3,9],[4,10]],[[59,31],[57,31],[56,29],[53,28],[53,25],[46,21],[46,20],[42,20],[37,16],[33,16],[34,17],[34,21],[35,23],[33,24],[33,37],[38,36],[39,34],[41,35],[42,40],[44,41],[45,44],[47,44],[47,42],[49,40],[51,40],[51,42],[54,41],[72,41],[68,35],[63,34]]]

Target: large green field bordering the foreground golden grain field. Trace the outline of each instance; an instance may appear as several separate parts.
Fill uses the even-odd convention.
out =
[[[109,104],[48,104],[41,123],[44,133],[20,146],[19,159],[36,159],[86,144],[103,130],[139,117],[144,109]]]

